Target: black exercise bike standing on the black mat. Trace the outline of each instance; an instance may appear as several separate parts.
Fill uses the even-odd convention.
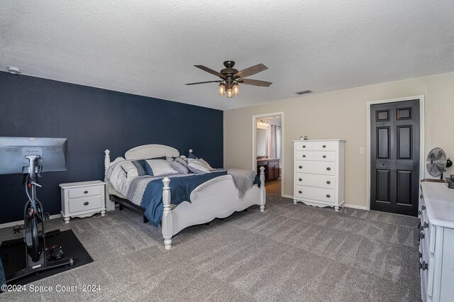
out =
[[[26,194],[28,201],[24,207],[23,240],[26,244],[26,267],[20,271],[6,276],[6,283],[19,279],[29,274],[34,274],[46,269],[74,265],[72,258],[63,258],[61,247],[54,246],[48,249],[45,245],[45,236],[59,233],[60,230],[46,234],[44,232],[45,214],[43,204],[36,198],[38,184],[36,176],[40,176],[42,165],[39,155],[28,155],[28,174],[26,175]],[[40,225],[40,226],[39,226]]]

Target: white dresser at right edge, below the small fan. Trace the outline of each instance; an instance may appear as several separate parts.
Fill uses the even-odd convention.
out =
[[[454,189],[421,181],[419,262],[422,301],[454,299]]]

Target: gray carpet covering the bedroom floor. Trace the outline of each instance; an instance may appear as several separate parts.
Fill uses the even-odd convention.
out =
[[[270,195],[265,213],[215,220],[177,235],[127,209],[49,220],[72,228],[94,262],[33,283],[77,293],[2,293],[4,301],[420,301],[417,218],[350,208],[336,213]],[[1,229],[2,240],[20,237]],[[99,284],[94,293],[82,284]]]

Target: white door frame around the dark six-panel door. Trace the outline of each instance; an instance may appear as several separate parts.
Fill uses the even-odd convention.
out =
[[[425,138],[425,121],[424,121],[424,95],[420,96],[406,96],[403,98],[397,99],[385,99],[378,101],[368,101],[366,104],[366,121],[367,121],[367,163],[366,163],[366,208],[370,210],[370,106],[375,104],[384,104],[384,103],[396,103],[399,101],[411,101],[419,99],[419,178],[423,179],[425,175],[425,150],[424,150],[424,138]],[[421,194],[421,188],[419,188],[419,194]],[[418,194],[418,195],[419,195]]]

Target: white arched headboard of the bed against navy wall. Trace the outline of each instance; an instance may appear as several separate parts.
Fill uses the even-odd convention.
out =
[[[162,156],[171,156],[179,157],[179,152],[177,149],[165,146],[165,145],[142,145],[138,147],[133,147],[132,149],[126,151],[125,157],[117,157],[114,162],[111,162],[111,157],[109,156],[110,151],[104,151],[106,156],[104,157],[104,168],[105,172],[111,165],[119,162],[121,160],[143,160],[153,157],[162,157]],[[104,172],[104,174],[105,174]]]

